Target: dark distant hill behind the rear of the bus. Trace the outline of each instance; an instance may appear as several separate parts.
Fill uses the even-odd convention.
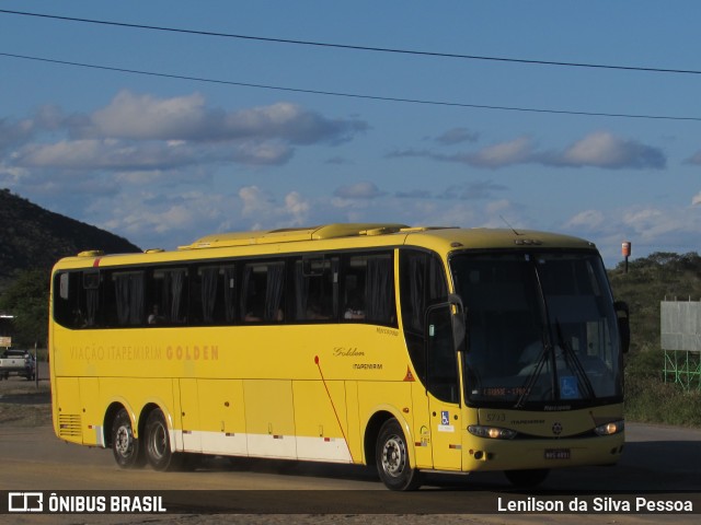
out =
[[[15,270],[46,268],[85,249],[107,254],[140,252],[127,240],[54,213],[0,189],[0,289]]]

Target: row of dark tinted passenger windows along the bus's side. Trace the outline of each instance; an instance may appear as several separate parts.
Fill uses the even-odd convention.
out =
[[[435,281],[430,276],[426,279]],[[310,322],[397,326],[392,253],[91,269],[55,279],[54,316],[70,328]],[[436,290],[418,307],[443,293],[443,288]]]

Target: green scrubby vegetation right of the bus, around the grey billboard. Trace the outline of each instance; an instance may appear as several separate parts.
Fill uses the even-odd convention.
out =
[[[629,421],[701,427],[701,392],[665,383],[659,345],[659,303],[701,300],[701,256],[655,253],[609,272],[617,300],[631,312],[631,350],[625,355]]]

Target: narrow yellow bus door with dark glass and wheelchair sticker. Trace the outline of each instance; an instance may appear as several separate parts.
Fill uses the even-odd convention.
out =
[[[426,314],[426,387],[434,468],[462,467],[462,421],[458,355],[453,345],[451,307],[444,303]]]

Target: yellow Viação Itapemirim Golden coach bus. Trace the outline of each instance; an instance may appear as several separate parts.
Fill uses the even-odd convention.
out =
[[[58,261],[53,418],[129,468],[191,453],[429,471],[622,453],[628,311],[594,244],[542,232],[327,224]]]

